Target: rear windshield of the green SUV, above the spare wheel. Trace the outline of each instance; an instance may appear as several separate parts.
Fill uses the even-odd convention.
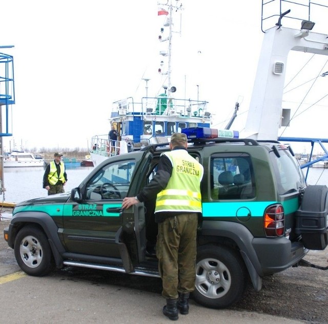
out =
[[[297,192],[299,188],[305,187],[305,180],[298,162],[292,157],[288,149],[278,150],[280,157],[270,152],[279,195]]]

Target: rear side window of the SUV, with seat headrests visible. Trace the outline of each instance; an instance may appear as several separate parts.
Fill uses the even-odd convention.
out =
[[[210,160],[211,198],[251,199],[255,181],[251,158],[245,153],[213,154]]]

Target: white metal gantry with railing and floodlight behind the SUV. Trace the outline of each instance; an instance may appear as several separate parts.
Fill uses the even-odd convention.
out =
[[[312,21],[313,13],[318,10],[326,10],[325,12],[328,13],[328,6],[323,0],[318,0],[316,3],[309,0],[308,4],[305,3],[305,1],[299,3],[290,0],[262,0],[261,30],[264,37],[247,121],[240,136],[255,140],[311,143],[310,161],[301,166],[301,168],[308,168],[307,177],[312,164],[328,159],[328,150],[323,145],[328,143],[328,139],[278,136],[279,128],[288,127],[291,123],[291,109],[282,108],[289,53],[298,51],[328,56],[328,34],[312,32],[315,25]],[[289,7],[293,9],[288,9]],[[272,9],[275,14],[272,14]],[[294,16],[294,13],[297,16]],[[269,28],[263,28],[264,25]],[[287,27],[289,25],[293,28]],[[322,76],[325,76],[325,73]],[[312,160],[315,143],[321,146],[325,154]]]

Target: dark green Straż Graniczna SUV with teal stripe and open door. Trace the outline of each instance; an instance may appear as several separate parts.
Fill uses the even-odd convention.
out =
[[[195,301],[228,307],[249,278],[259,291],[264,276],[325,249],[327,187],[306,186],[289,147],[187,134],[189,154],[204,167]],[[70,265],[159,277],[155,202],[121,205],[149,183],[167,150],[156,144],[111,157],[71,193],[17,204],[4,235],[20,268],[33,276]]]

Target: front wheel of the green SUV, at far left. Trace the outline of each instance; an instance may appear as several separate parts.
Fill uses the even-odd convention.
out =
[[[45,276],[54,268],[54,259],[44,232],[35,226],[26,226],[15,238],[16,261],[25,273]]]

